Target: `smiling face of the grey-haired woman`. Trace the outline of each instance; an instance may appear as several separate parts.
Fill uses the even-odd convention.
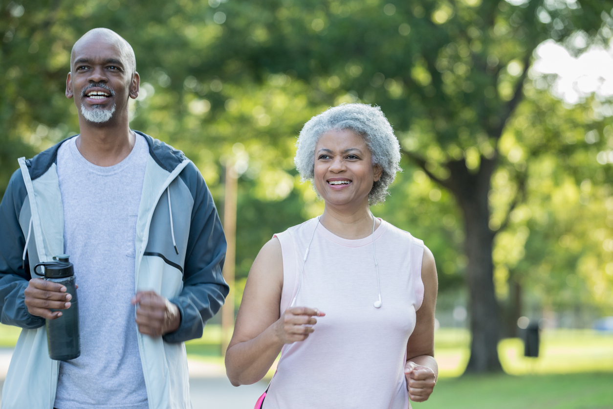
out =
[[[368,193],[381,177],[364,138],[349,129],[333,129],[315,145],[315,188],[326,205],[368,205]]]

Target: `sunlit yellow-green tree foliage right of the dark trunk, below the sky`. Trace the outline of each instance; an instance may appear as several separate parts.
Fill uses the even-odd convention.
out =
[[[539,84],[546,78],[535,79]],[[498,287],[508,280],[503,292],[512,286],[529,288],[550,310],[592,305],[611,313],[607,148],[613,143],[613,112],[598,96],[569,106],[531,84],[525,94],[501,139],[508,164],[493,177],[490,193],[496,221],[503,207],[497,204],[508,202],[500,196],[509,196],[504,192],[513,178],[509,170],[527,168],[524,199],[511,213],[509,228],[497,237]]]

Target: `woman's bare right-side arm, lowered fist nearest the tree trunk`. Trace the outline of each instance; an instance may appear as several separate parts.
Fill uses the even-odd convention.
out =
[[[432,251],[425,246],[421,277],[424,300],[417,310],[415,329],[406,344],[406,384],[409,397],[414,402],[427,400],[438,379],[438,364],[434,359],[434,311],[438,277]]]

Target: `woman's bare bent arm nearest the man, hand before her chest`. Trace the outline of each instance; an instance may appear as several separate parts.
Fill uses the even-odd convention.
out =
[[[261,380],[286,343],[305,340],[313,332],[313,308],[292,307],[280,316],[283,258],[276,237],[262,247],[238,308],[234,334],[226,351],[226,373],[234,386]]]

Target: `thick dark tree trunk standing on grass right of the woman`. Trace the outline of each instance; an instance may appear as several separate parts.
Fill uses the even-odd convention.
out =
[[[473,334],[466,373],[500,372],[498,340],[500,315],[493,283],[492,247],[488,194],[496,158],[481,158],[478,172],[471,173],[463,160],[449,162],[446,181],[456,197],[465,221],[464,250],[468,257],[466,283],[470,299],[470,329]]]

